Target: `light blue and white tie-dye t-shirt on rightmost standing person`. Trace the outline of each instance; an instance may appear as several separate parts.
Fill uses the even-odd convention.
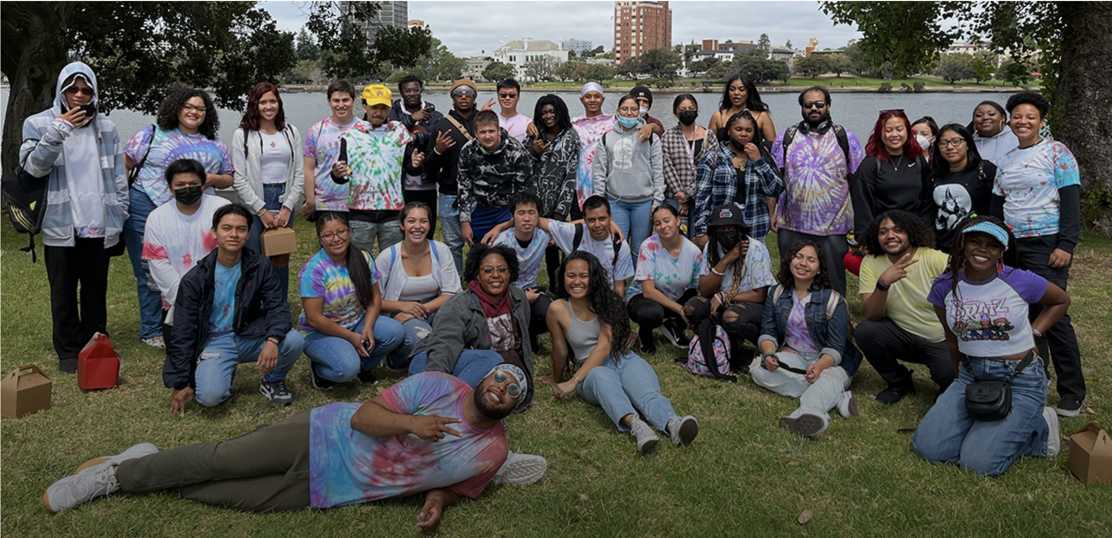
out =
[[[1058,190],[1081,185],[1078,160],[1062,142],[1043,140],[1015,148],[996,162],[992,193],[1004,197],[1004,221],[1015,237],[1058,233]]]

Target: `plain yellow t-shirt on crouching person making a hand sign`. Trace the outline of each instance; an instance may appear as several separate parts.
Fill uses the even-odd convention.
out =
[[[912,258],[919,261],[907,267],[906,277],[892,285],[884,315],[912,335],[941,342],[946,339],[946,333],[926,296],[931,292],[934,279],[946,271],[949,257],[937,250],[921,247]],[[858,292],[864,295],[876,291],[876,278],[890,267],[892,260],[887,256],[866,256],[861,261]]]

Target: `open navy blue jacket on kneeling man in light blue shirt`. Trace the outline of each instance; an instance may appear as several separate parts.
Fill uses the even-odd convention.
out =
[[[209,340],[209,317],[216,295],[216,257],[212,249],[181,277],[178,297],[173,301],[173,326],[166,342],[166,365],[162,383],[169,389],[193,386],[197,358]],[[286,338],[294,328],[289,302],[270,260],[244,248],[239,282],[231,319],[232,331],[240,338]]]

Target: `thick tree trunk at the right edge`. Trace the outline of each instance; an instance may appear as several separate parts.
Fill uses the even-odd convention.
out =
[[[1082,192],[1112,189],[1112,2],[1060,2],[1064,22],[1054,138],[1070,148]]]

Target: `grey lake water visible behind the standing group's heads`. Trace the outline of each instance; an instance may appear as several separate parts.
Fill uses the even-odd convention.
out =
[[[527,116],[533,116],[533,109],[537,99],[544,93],[526,91],[522,93],[522,101],[518,103],[518,111]],[[557,93],[568,104],[572,117],[583,114],[583,106],[578,102],[578,93]],[[494,92],[480,92],[479,104],[495,96]],[[654,103],[652,116],[658,118],[665,126],[671,128],[677,123],[672,114],[672,101],[676,93],[659,93]],[[903,108],[912,121],[923,116],[931,116],[940,126],[959,122],[969,123],[973,116],[973,109],[984,100],[995,100],[1001,104],[1007,100],[1010,93],[833,93],[833,106],[831,109],[832,119],[853,131],[862,142],[867,138],[876,122],[880,110]],[[698,123],[706,126],[711,120],[711,114],[718,104],[722,93],[695,93],[699,103]],[[603,104],[605,112],[613,112],[617,107],[617,93],[607,93],[606,102]],[[765,103],[772,109],[772,118],[777,131],[801,120],[800,106],[796,93],[765,93],[762,96]],[[445,112],[451,108],[451,99],[444,91],[428,91],[425,99],[434,103],[437,110]],[[304,133],[309,126],[329,116],[328,103],[324,93],[284,93],[282,102],[286,110],[287,121],[292,122]],[[7,112],[8,90],[0,92],[0,126],[3,123],[3,116]],[[495,104],[495,110],[498,110]],[[231,141],[232,131],[239,124],[241,112],[220,109],[220,138],[226,142]],[[361,113],[360,113],[361,116]],[[153,122],[153,117],[133,112],[130,110],[116,110],[109,114],[116,122],[121,138],[129,138],[139,129]]]

